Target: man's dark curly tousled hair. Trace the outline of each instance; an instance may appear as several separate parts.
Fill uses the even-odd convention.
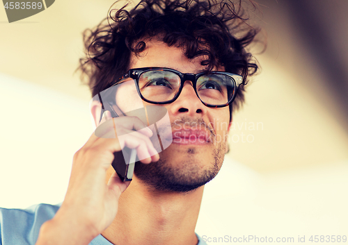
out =
[[[208,70],[223,66],[243,76],[230,105],[232,116],[232,108],[244,102],[248,76],[258,70],[245,48],[259,30],[246,24],[241,5],[242,0],[141,0],[132,10],[126,10],[128,4],[111,9],[96,28],[84,31],[86,56],[78,68],[81,79],[92,96],[106,90],[127,72],[132,52],[139,56],[145,49],[143,40],[155,37],[170,47],[182,47],[189,59],[207,57],[202,65]]]

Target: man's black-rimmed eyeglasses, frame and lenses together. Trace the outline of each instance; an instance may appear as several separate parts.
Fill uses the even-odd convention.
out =
[[[185,81],[191,81],[196,95],[204,105],[221,108],[232,103],[242,76],[225,71],[181,73],[175,69],[145,67],[129,69],[127,74],[116,81],[133,78],[136,89],[143,101],[154,104],[172,103],[179,97]]]

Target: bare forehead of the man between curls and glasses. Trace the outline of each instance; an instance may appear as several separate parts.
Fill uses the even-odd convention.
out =
[[[144,41],[145,50],[136,56],[132,53],[129,69],[141,67],[166,67],[176,69],[182,73],[198,73],[206,69],[201,65],[207,56],[198,56],[189,59],[184,54],[182,47],[175,45],[169,47],[168,44],[158,40]]]

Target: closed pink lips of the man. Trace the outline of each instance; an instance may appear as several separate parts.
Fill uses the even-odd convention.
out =
[[[209,135],[204,130],[176,130],[173,131],[173,143],[207,144],[209,143]]]

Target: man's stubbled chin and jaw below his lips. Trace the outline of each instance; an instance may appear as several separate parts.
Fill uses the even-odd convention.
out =
[[[170,146],[159,153],[157,162],[136,162],[134,175],[154,191],[191,192],[212,180],[221,169],[225,149],[219,147],[210,153],[196,147],[173,152]],[[223,152],[223,153],[222,153]],[[180,155],[180,158],[175,158]],[[174,156],[174,157],[173,157]]]

